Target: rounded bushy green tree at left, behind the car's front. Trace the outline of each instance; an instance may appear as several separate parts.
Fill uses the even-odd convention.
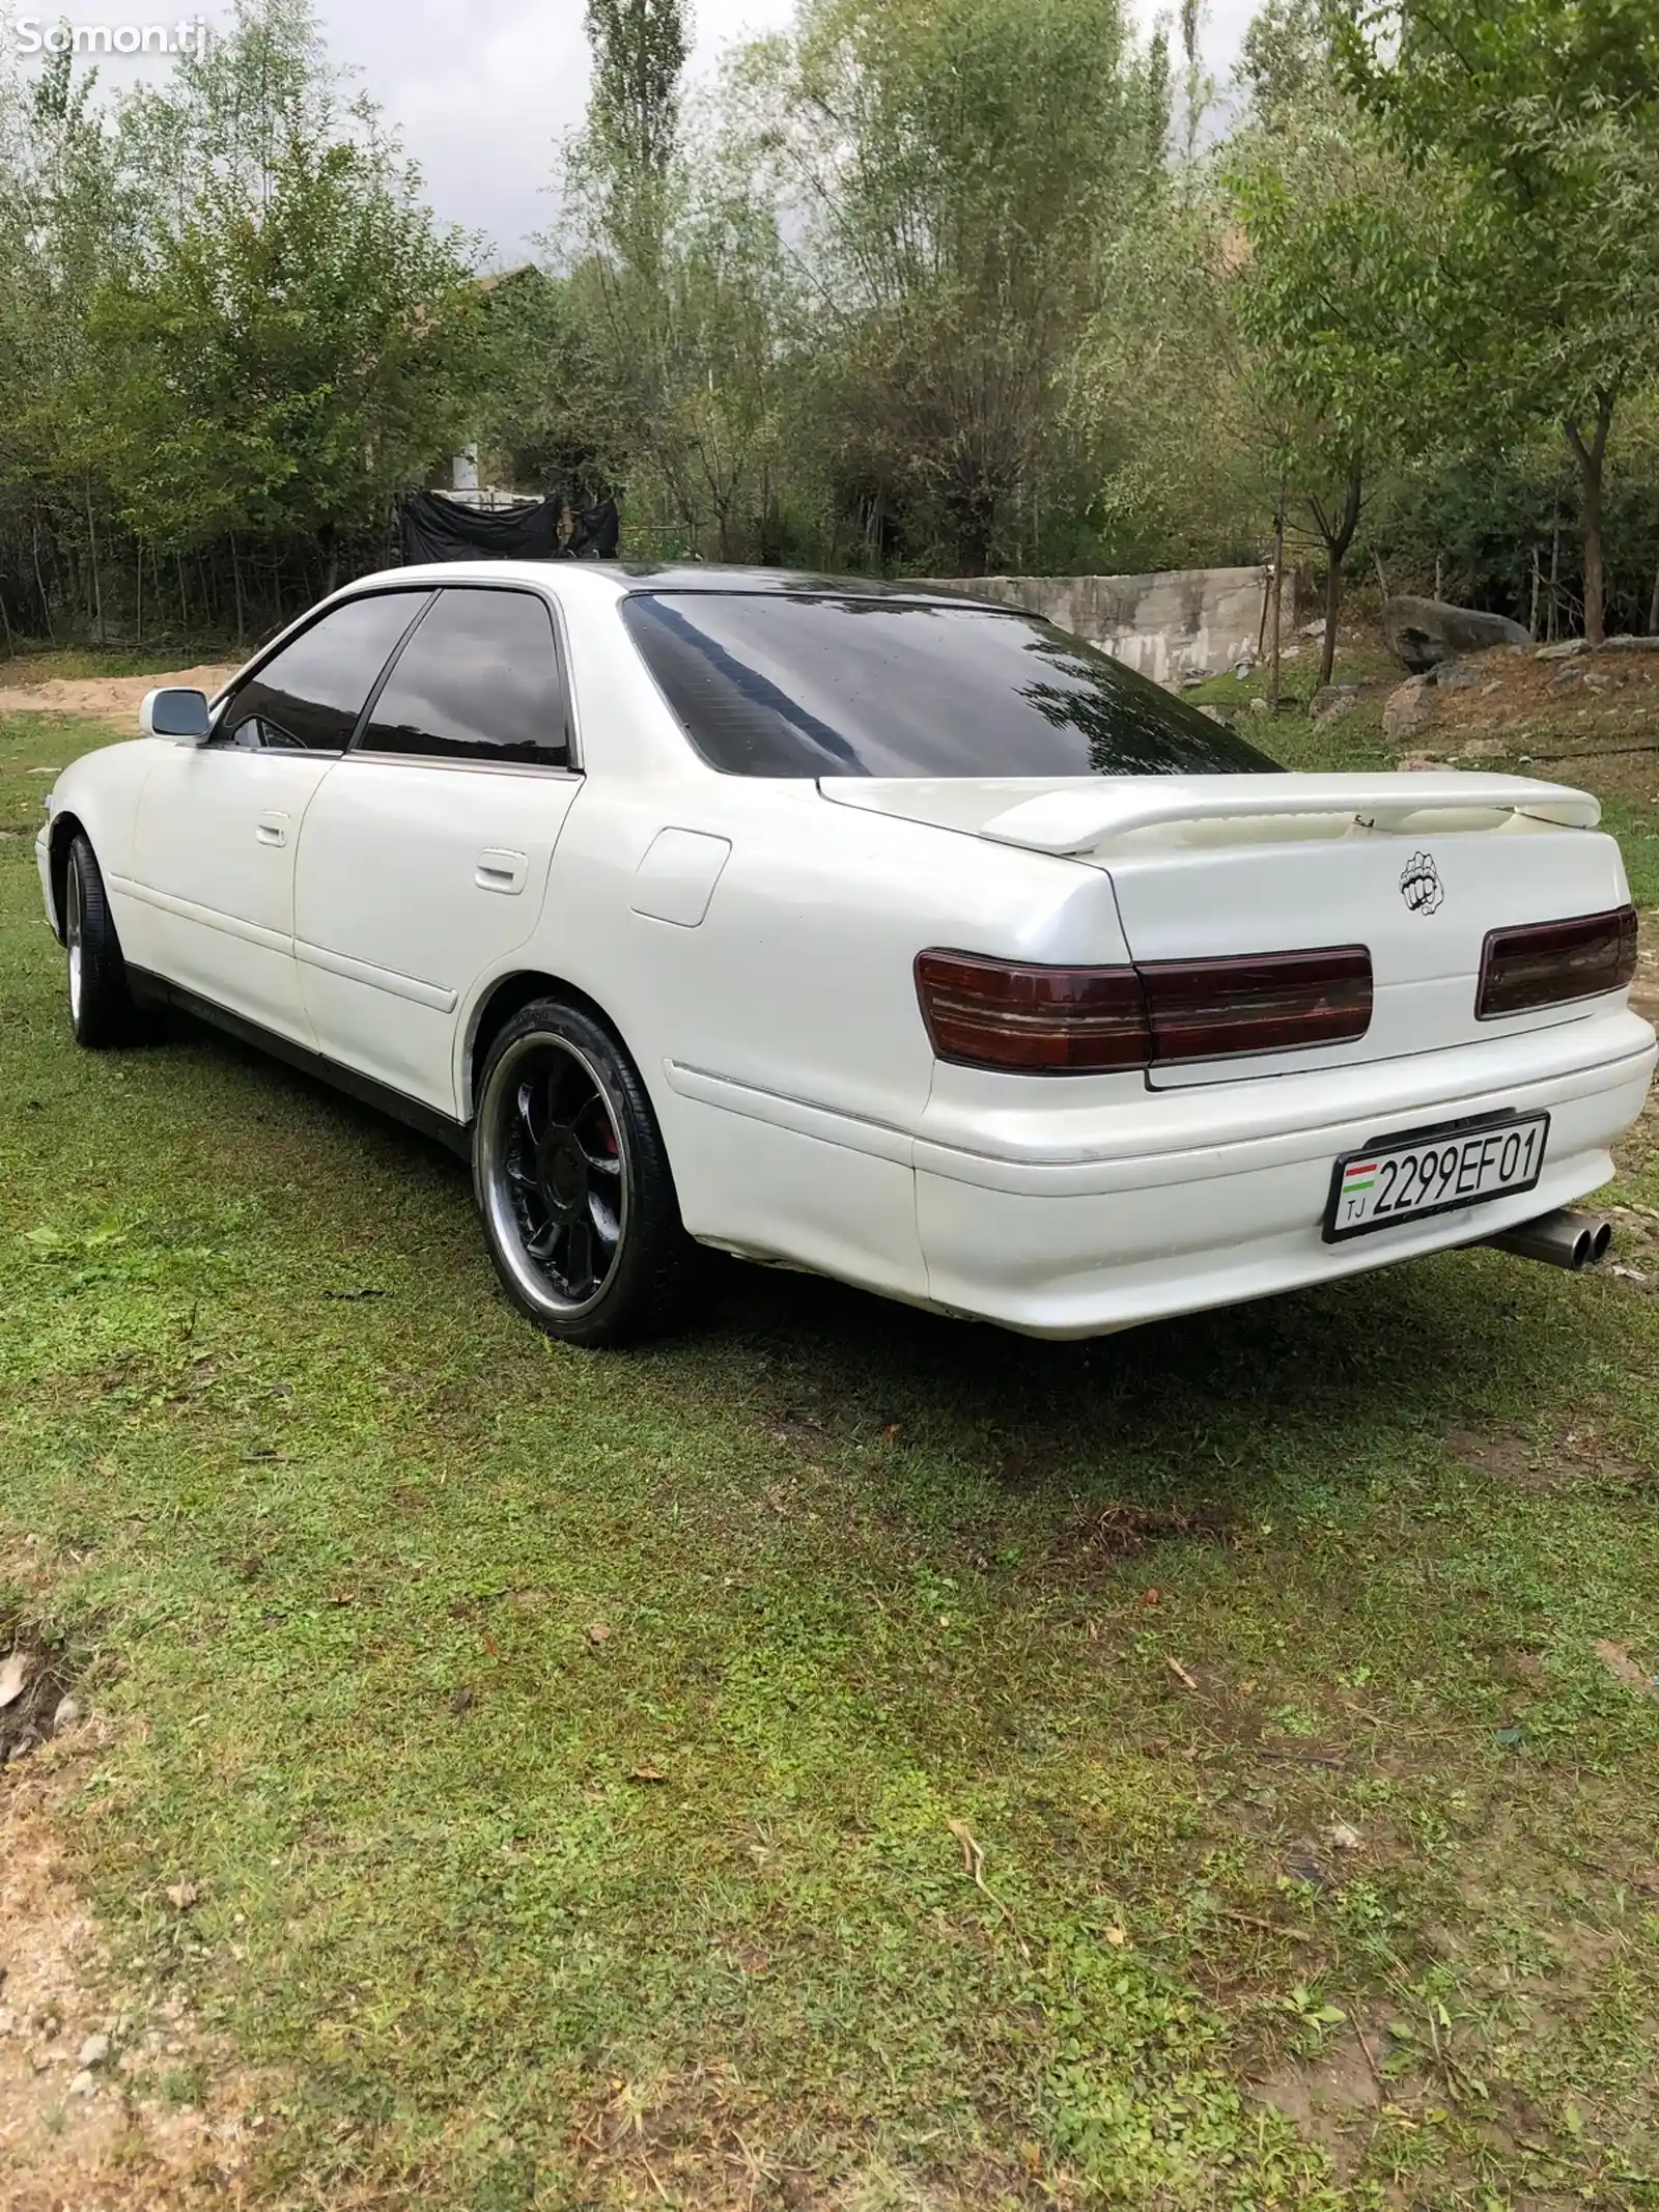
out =
[[[310,542],[332,588],[343,538],[469,427],[478,290],[374,148],[292,139],[261,192],[215,179],[102,288],[86,407],[139,535]]]

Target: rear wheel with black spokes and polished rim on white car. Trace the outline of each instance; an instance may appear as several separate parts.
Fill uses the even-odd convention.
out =
[[[573,1345],[684,1321],[697,1248],[639,1071],[593,1015],[535,1000],[489,1048],[473,1188],[502,1285]]]

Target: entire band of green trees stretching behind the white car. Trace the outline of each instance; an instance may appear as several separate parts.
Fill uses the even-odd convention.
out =
[[[471,442],[646,555],[1201,566],[1283,515],[1332,624],[1378,562],[1659,619],[1646,0],[1265,0],[1221,131],[1199,18],[801,0],[688,91],[684,0],[591,0],[511,281],[312,0],[119,97],[0,73],[0,646],[261,630]]]

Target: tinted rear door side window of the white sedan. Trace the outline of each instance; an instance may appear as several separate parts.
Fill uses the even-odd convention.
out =
[[[374,703],[363,752],[568,768],[546,599],[465,586],[440,593]]]

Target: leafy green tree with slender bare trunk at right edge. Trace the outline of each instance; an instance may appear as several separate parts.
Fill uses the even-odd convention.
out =
[[[1385,0],[1334,22],[1356,100],[1460,179],[1438,347],[1500,420],[1559,425],[1582,487],[1584,630],[1604,635],[1615,414],[1659,374],[1659,13],[1650,0]]]

